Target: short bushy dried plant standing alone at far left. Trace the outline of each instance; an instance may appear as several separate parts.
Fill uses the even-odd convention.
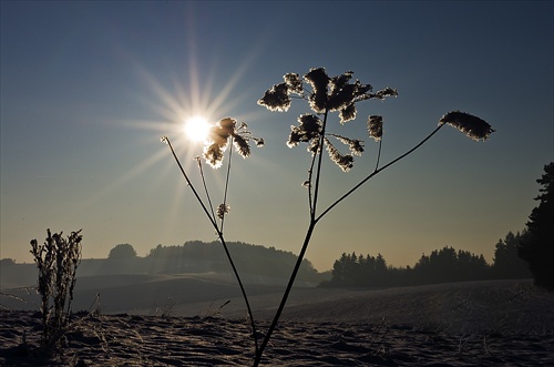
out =
[[[76,268],[81,263],[81,230],[68,238],[62,232],[48,236],[44,244],[31,241],[31,254],[39,271],[38,292],[41,297],[42,345],[49,349],[61,346],[69,326]]]

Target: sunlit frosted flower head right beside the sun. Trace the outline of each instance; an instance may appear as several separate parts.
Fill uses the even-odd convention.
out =
[[[222,119],[211,128],[204,146],[203,156],[212,167],[222,166],[223,153],[229,145],[229,141],[233,141],[238,154],[244,159],[250,156],[250,141],[254,141],[258,147],[264,146],[264,140],[252,136],[246,123],[242,122],[237,128],[235,119]]]

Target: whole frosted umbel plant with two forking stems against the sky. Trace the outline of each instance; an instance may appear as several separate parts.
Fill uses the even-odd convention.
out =
[[[481,120],[480,118],[460,111],[452,111],[444,114],[439,120],[438,128],[434,129],[427,137],[424,137],[416,146],[413,146],[402,155],[398,156],[397,159],[392,160],[391,162],[381,166],[380,152],[383,137],[383,119],[382,116],[379,115],[370,115],[367,120],[368,134],[370,137],[372,137],[376,142],[379,143],[379,153],[377,155],[377,163],[375,170],[370,172],[358,184],[356,184],[351,190],[347,191],[346,193],[342,194],[342,196],[335,200],[331,205],[329,205],[324,210],[320,210],[318,207],[318,201],[319,201],[319,195],[321,194],[320,177],[322,170],[322,164],[321,164],[322,151],[327,151],[329,159],[335,164],[337,164],[343,172],[348,172],[353,166],[355,162],[353,155],[361,155],[365,150],[365,143],[362,140],[343,136],[341,134],[337,134],[330,131],[328,125],[328,118],[330,113],[338,112],[339,123],[345,124],[346,122],[356,119],[357,103],[368,100],[384,100],[387,98],[398,95],[397,90],[391,88],[384,88],[382,90],[373,92],[373,89],[370,84],[363,84],[358,80],[351,83],[350,81],[352,79],[352,74],[353,73],[351,71],[348,71],[343,74],[330,78],[324,68],[311,69],[304,77],[300,77],[297,73],[287,73],[284,75],[284,82],[273,85],[269,90],[265,92],[264,96],[258,100],[258,104],[267,108],[269,111],[286,112],[290,108],[294,96],[308,102],[308,105],[311,110],[310,113],[301,114],[298,118],[298,124],[291,126],[291,131],[287,142],[287,145],[289,147],[297,146],[300,143],[306,143],[308,153],[311,155],[311,162],[308,170],[308,177],[302,184],[305,187],[307,187],[308,192],[309,225],[306,232],[304,244],[297,257],[295,267],[290,274],[290,278],[283,295],[279,307],[277,308],[275,317],[259,347],[256,338],[256,326],[249,307],[248,297],[246,295],[246,292],[244,290],[240,277],[233,263],[233,258],[228,253],[223,235],[224,217],[229,211],[226,197],[227,197],[228,179],[230,171],[232,150],[229,150],[224,201],[223,204],[219,204],[217,206],[217,210],[215,210],[215,207],[212,205],[212,200],[206,188],[207,186],[205,184],[204,174],[202,170],[202,160],[198,159],[197,161],[208,205],[204,203],[198,192],[193,186],[188,175],[183,169],[181,162],[178,161],[177,155],[175,154],[175,151],[167,136],[164,136],[162,139],[163,142],[170,145],[170,149],[173,153],[175,161],[177,162],[177,165],[183,176],[185,177],[187,184],[189,185],[191,190],[196,196],[196,200],[203,207],[213,227],[216,230],[217,236],[219,237],[222,244],[224,245],[224,248],[232,264],[235,276],[240,285],[240,289],[243,292],[243,296],[245,298],[245,303],[248,308],[248,314],[250,316],[250,324],[256,345],[256,356],[254,360],[254,366],[257,366],[260,363],[264,349],[267,346],[269,339],[271,338],[271,334],[277,326],[283,309],[287,303],[289,293],[298,275],[300,265],[304,262],[304,256],[310,243],[314,230],[317,223],[319,223],[319,221],[327,213],[329,213],[335,206],[337,206],[345,198],[350,196],[355,191],[357,191],[360,186],[362,186],[375,175],[388,169],[389,166],[393,165],[394,163],[402,160],[407,155],[411,154],[413,151],[416,151],[418,147],[424,144],[429,139],[431,139],[431,136],[433,136],[444,125],[453,126],[475,141],[480,140],[484,141],[489,139],[490,134],[494,131],[491,128],[491,125],[489,125],[485,121]],[[237,128],[237,123],[234,119],[230,118],[223,119],[216,126],[212,129],[211,137],[204,150],[203,157],[207,161],[207,163],[212,167],[217,169],[222,165],[225,150],[232,144],[236,146],[238,153],[243,157],[248,156],[250,153],[249,149],[250,141],[256,142],[257,145],[264,144],[264,141],[261,139],[256,139],[252,136],[250,132],[247,130],[246,124],[243,123]],[[336,146],[337,143],[346,145],[349,153],[342,153]],[[220,221],[219,225],[217,224],[217,220]]]

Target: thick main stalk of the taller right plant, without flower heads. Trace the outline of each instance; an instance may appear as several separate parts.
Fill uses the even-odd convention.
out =
[[[314,228],[316,227],[316,224],[318,220],[315,218],[316,216],[316,206],[317,206],[317,198],[318,198],[318,193],[319,193],[319,177],[321,176],[321,156],[324,153],[324,139],[325,139],[325,128],[327,124],[327,111],[325,112],[324,116],[324,126],[321,129],[321,137],[319,142],[319,156],[318,156],[318,163],[317,163],[317,173],[316,173],[316,185],[314,190],[314,204],[310,211],[310,223],[308,226],[308,231],[306,232],[306,237],[304,238],[304,244],[302,248],[300,249],[300,253],[298,254],[298,258],[296,259],[295,267],[293,269],[293,273],[290,274],[290,278],[288,279],[287,288],[285,289],[285,293],[283,294],[283,298],[280,300],[279,307],[277,308],[277,312],[275,313],[274,319],[271,322],[271,325],[269,325],[269,329],[267,330],[264,340],[261,341],[261,345],[259,346],[258,353],[256,354],[256,358],[254,359],[254,367],[257,367],[261,360],[261,356],[264,354],[264,349],[266,348],[267,344],[269,343],[269,339],[271,338],[271,334],[277,327],[277,324],[279,322],[280,315],[283,310],[285,309],[285,305],[287,304],[288,296],[290,294],[290,290],[293,289],[293,285],[295,284],[296,276],[298,275],[298,271],[300,269],[300,266],[302,265],[304,256],[306,255],[306,251],[308,249],[308,245],[311,239],[311,235],[314,234]],[[311,175],[311,170],[310,170],[310,175]],[[311,176],[310,176],[310,182],[311,182]],[[311,201],[310,201],[311,203]]]

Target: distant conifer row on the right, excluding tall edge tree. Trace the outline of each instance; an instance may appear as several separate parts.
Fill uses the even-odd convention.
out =
[[[430,255],[423,254],[413,267],[392,267],[381,254],[377,256],[343,253],[332,266],[332,277],[324,287],[384,287],[411,286],[449,282],[484,281],[494,278],[529,278],[526,263],[517,256],[522,235],[510,232],[499,239],[494,263],[489,265],[483,255],[455,251],[445,246]]]

